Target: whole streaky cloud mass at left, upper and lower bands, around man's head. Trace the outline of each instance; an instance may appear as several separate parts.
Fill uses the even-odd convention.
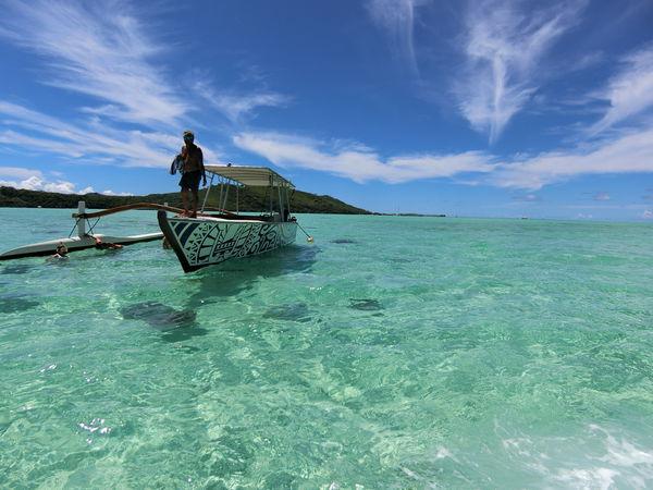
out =
[[[0,144],[87,164],[168,167],[183,144],[181,130],[197,126],[189,113],[206,114],[210,106],[192,90],[177,95],[180,84],[171,83],[158,63],[164,48],[149,33],[120,0],[5,2],[0,39],[39,54],[46,66],[39,73],[44,84],[91,96],[99,103],[84,102],[77,109],[85,120],[72,122],[0,100],[0,114],[7,118],[0,121]],[[237,95],[205,88],[212,107],[232,121],[288,100],[273,91]],[[123,122],[141,128],[126,130]],[[219,162],[218,152],[197,136],[206,161]]]

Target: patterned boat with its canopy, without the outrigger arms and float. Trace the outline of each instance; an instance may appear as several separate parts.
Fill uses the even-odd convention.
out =
[[[184,272],[263,252],[295,242],[297,220],[291,217],[293,183],[266,167],[206,166],[211,183],[197,218],[168,217],[158,211],[159,226],[174,249]],[[218,177],[219,212],[205,213],[213,180]],[[238,189],[243,186],[268,187],[269,209],[259,216],[238,212]],[[226,211],[230,188],[236,192],[235,212]],[[276,201],[276,206],[274,205]]]

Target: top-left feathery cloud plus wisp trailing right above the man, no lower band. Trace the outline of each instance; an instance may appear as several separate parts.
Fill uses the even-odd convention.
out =
[[[78,109],[104,121],[178,131],[194,112],[210,114],[208,108],[236,122],[289,100],[270,90],[217,90],[208,83],[197,84],[195,93],[182,90],[160,62],[171,49],[121,0],[9,0],[3,12],[0,37],[40,56],[41,82],[96,98],[97,105]]]

